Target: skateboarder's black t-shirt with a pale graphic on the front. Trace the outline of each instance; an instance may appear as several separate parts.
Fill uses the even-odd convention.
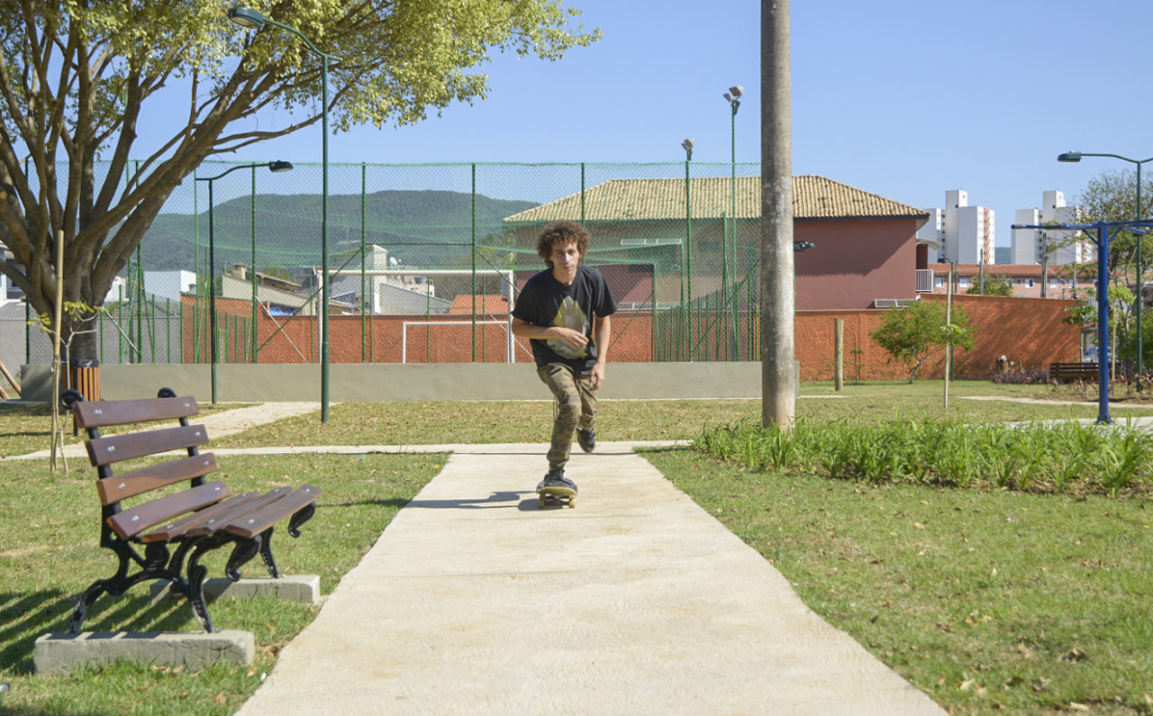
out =
[[[528,279],[512,315],[533,325],[559,325],[587,336],[588,344],[583,348],[573,348],[558,339],[534,338],[528,341],[537,367],[562,363],[583,375],[591,372],[597,356],[593,317],[610,316],[616,311],[617,301],[601,272],[578,264],[576,279],[568,286],[558,281],[551,269]]]

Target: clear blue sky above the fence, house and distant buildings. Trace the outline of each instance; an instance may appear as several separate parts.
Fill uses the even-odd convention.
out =
[[[570,5],[602,42],[557,62],[497,56],[488,99],[338,135],[331,160],[665,161],[692,137],[694,160],[729,161],[732,84],[745,88],[737,160],[760,160],[758,0]],[[1091,176],[1132,168],[1060,152],[1153,156],[1147,0],[793,0],[791,15],[794,174],[921,208],[964,189],[1008,246],[1015,210],[1043,190],[1072,203]],[[319,127],[235,158],[318,161]]]

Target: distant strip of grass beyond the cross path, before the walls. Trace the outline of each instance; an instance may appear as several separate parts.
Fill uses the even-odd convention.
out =
[[[542,386],[542,393],[543,393]],[[806,383],[797,401],[798,417],[823,421],[892,420],[910,416],[951,417],[963,421],[1028,421],[1097,417],[1092,404],[1069,390],[1046,385],[995,385],[986,380],[954,382],[949,408],[943,407],[940,380],[846,384]],[[1004,398],[967,400],[963,395]],[[1041,402],[1024,402],[1040,400]],[[1153,404],[1115,406],[1124,415],[1153,415]],[[706,424],[760,421],[760,400],[613,400],[602,401],[596,436],[601,440],[689,439]],[[271,445],[419,445],[439,443],[542,443],[549,440],[552,402],[342,402],[330,409],[327,424],[318,413],[277,423],[276,430],[226,436],[214,444],[227,447]]]

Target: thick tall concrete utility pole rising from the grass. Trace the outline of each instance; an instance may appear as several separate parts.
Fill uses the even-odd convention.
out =
[[[789,0],[761,0],[761,423],[792,430],[792,93]]]

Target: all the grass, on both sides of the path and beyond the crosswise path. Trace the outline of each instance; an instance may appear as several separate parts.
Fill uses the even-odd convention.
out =
[[[805,384],[811,421],[949,417],[978,422],[1094,417],[1094,405],[1046,386]],[[964,400],[984,395],[1007,400]],[[1008,400],[1015,399],[1015,400]],[[1020,402],[1019,399],[1042,402]],[[1048,401],[1048,402],[1046,402]],[[1128,401],[1136,405],[1136,401]],[[1153,407],[1115,416],[1153,415]],[[692,439],[709,425],[759,421],[760,401],[605,401],[597,436]],[[549,401],[334,405],[318,415],[217,440],[217,446],[545,442]],[[70,432],[70,431],[69,431]],[[47,409],[0,406],[0,455],[47,446]],[[802,600],[943,707],[958,714],[1153,714],[1153,505],[1135,497],[867,484],[815,473],[761,472],[692,449],[646,457],[784,573]],[[327,594],[430,480],[445,455],[284,455],[220,459],[234,488],[303,480],[324,489],[300,540],[278,534],[286,573],[321,574]],[[210,606],[221,628],[256,635],[251,668],[198,674],[138,664],[31,673],[32,642],[67,628],[75,596],[114,565],[96,545],[86,461],[0,461],[0,714],[231,714],[311,618],[273,600]],[[1146,490],[1144,495],[1147,495]],[[223,559],[223,556],[218,556]],[[212,575],[221,572],[211,562]],[[247,573],[259,570],[250,563]],[[98,603],[86,630],[197,628],[187,604],[148,603],[146,589]]]

